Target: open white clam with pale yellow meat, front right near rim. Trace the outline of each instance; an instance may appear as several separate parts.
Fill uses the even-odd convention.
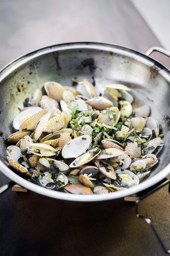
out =
[[[115,171],[115,174],[121,178],[120,186],[131,187],[139,184],[139,177],[128,170],[119,169]]]

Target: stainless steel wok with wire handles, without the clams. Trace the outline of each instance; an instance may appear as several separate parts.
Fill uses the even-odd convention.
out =
[[[122,83],[130,87],[134,96],[134,106],[149,105],[151,116],[159,121],[164,133],[164,149],[159,154],[159,165],[151,175],[138,186],[105,195],[72,195],[45,189],[35,181],[12,169],[6,159],[6,145],[0,140],[0,171],[12,180],[0,188],[0,193],[17,183],[34,192],[52,198],[71,201],[103,201],[122,198],[138,193],[136,215],[144,218],[154,230],[150,220],[138,214],[138,203],[159,187],[169,183],[165,179],[170,174],[170,70],[148,57],[159,51],[170,56],[164,49],[153,47],[146,55],[125,47],[99,43],[68,43],[46,47],[11,62],[0,71],[0,131],[8,137],[12,131],[8,124],[23,108],[23,101],[45,81],[57,81],[71,85],[71,78],[95,81],[96,91],[102,84]],[[156,234],[159,239],[158,235]],[[159,239],[165,252],[167,251]]]

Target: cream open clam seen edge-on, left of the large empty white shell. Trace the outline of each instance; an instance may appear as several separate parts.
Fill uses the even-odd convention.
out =
[[[36,154],[37,156],[46,156],[51,157],[54,156],[57,150],[50,145],[42,144],[42,143],[31,143],[28,145],[28,151],[32,154]]]

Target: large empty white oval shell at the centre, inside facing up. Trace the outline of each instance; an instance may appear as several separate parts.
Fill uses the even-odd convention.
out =
[[[83,154],[90,146],[92,139],[89,135],[79,136],[68,142],[62,149],[62,157],[72,158]]]

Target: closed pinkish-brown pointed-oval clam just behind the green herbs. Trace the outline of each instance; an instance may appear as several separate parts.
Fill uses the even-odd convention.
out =
[[[104,110],[113,106],[113,103],[110,100],[105,99],[102,96],[89,99],[88,101],[86,101],[86,103],[88,103],[88,105],[91,105],[91,107],[95,108],[96,110]]]

